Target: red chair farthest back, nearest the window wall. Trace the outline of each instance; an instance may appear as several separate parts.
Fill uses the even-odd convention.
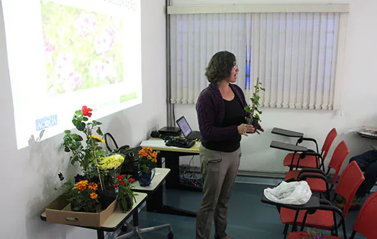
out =
[[[319,169],[320,167],[322,167],[323,170],[324,169],[324,160],[326,159],[326,156],[328,154],[328,150],[330,150],[330,147],[332,145],[332,142],[335,140],[335,138],[337,137],[338,133],[337,133],[337,130],[335,128],[332,128],[332,130],[330,130],[330,132],[328,132],[328,135],[325,139],[325,142],[324,142],[324,145],[322,146],[322,149],[321,149],[321,161],[319,161],[319,157],[316,157],[315,155],[304,155],[305,153],[289,153],[287,154],[287,156],[284,157],[284,160],[283,160],[283,165],[284,166],[289,166],[289,170],[292,170],[293,167],[296,167],[296,169],[300,168],[300,169],[305,169],[305,168],[309,168],[309,169]],[[315,139],[311,139],[311,138],[300,138],[300,139],[297,139],[297,142],[296,142],[296,145],[302,143],[302,141],[313,141],[315,143],[315,147],[317,149],[317,154],[319,154],[319,151],[318,151],[318,144],[317,144],[317,141]],[[315,152],[315,151],[313,151]],[[300,156],[302,157],[302,159],[300,159]]]

